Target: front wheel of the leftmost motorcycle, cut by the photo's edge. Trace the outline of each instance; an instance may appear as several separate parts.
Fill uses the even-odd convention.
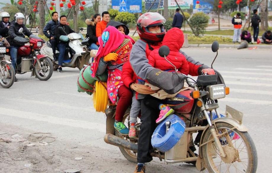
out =
[[[9,88],[13,85],[15,80],[15,70],[12,64],[8,64],[7,62],[1,62],[1,67],[4,74],[0,71],[0,85],[3,88]]]

